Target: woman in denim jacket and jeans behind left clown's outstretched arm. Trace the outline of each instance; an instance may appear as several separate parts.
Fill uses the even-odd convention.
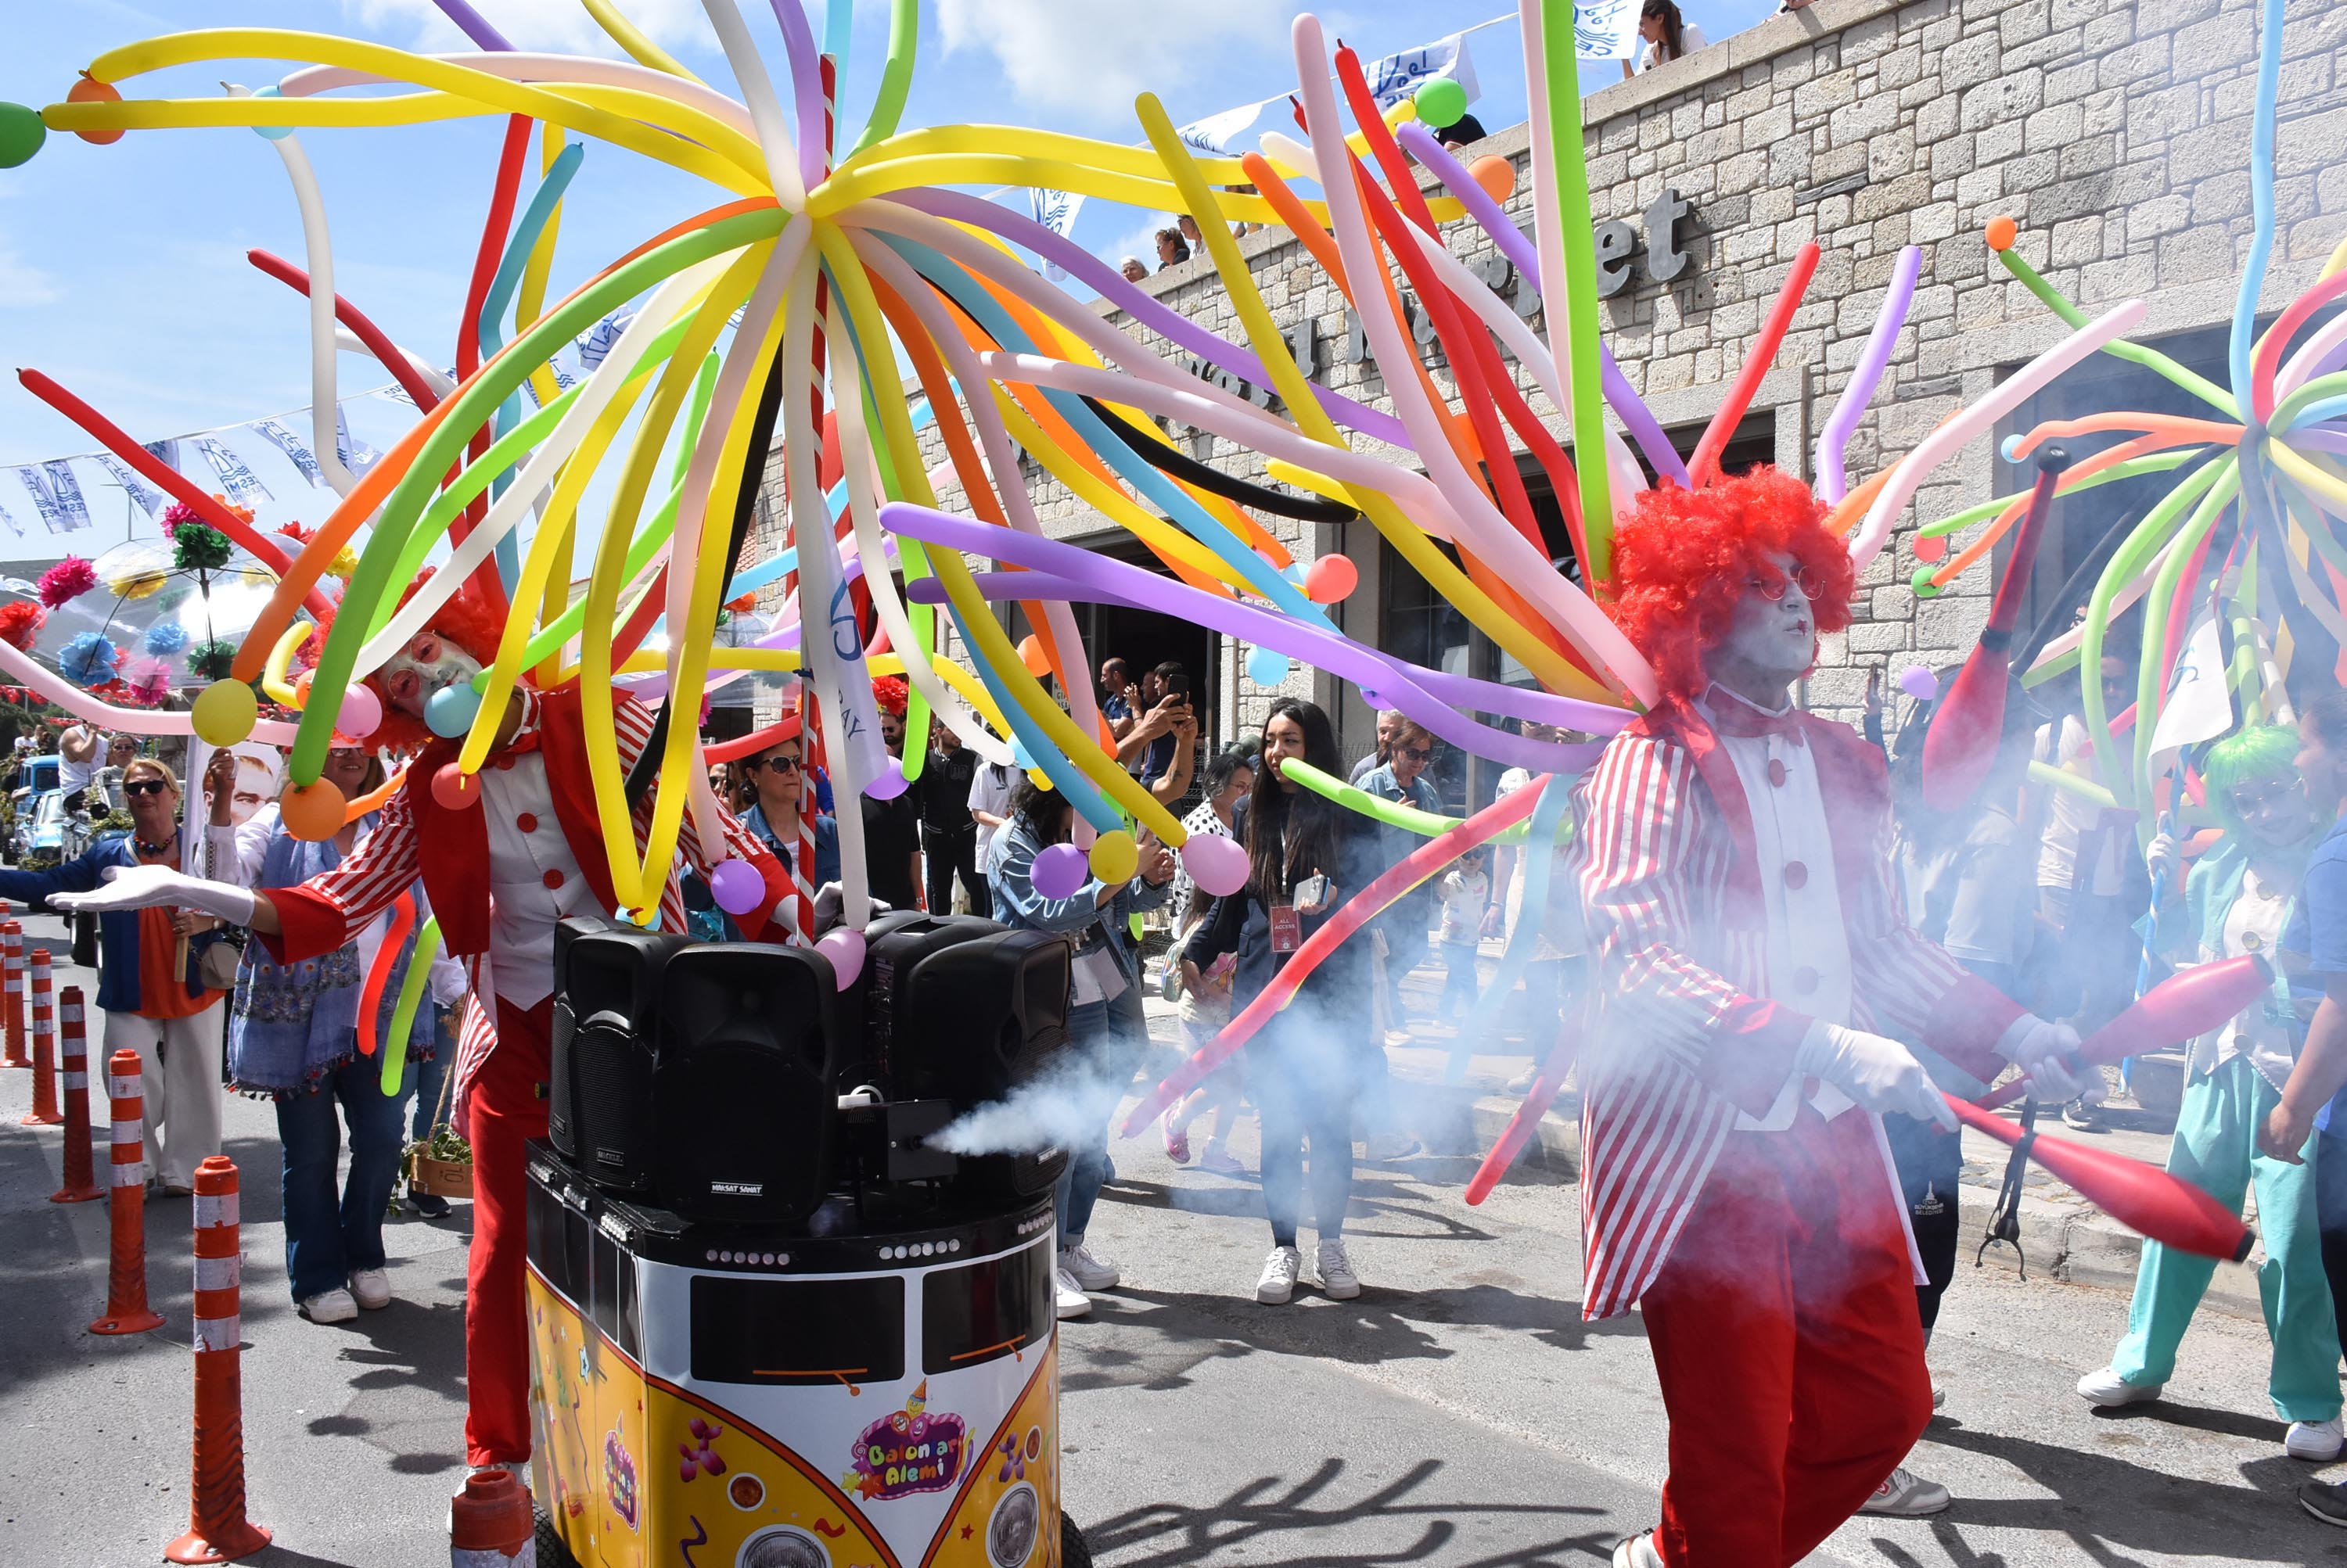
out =
[[[383,763],[357,744],[338,744],[326,753],[326,782],[343,791],[343,798],[357,800],[383,784]],[[207,845],[211,876],[239,887],[300,887],[312,876],[340,866],[373,826],[376,812],[368,812],[345,822],[333,838],[305,843],[286,831],[275,800],[237,824],[235,800],[225,791],[214,791]],[[434,1009],[420,1007],[408,1023],[399,1094],[383,1094],[385,1030],[415,955],[415,930],[432,918],[420,883],[408,897],[415,899],[415,922],[401,939],[376,1005],[378,1054],[359,1054],[359,1000],[390,937],[390,911],[319,958],[282,965],[258,941],[249,944],[228,1009],[230,1087],[277,1106],[277,1141],[284,1145],[286,1282],[293,1286],[296,1307],[312,1324],[345,1324],[359,1307],[373,1312],[392,1305],[392,1284],[383,1272],[383,1214],[399,1181],[408,1096],[415,1094],[415,1080],[422,1063],[432,1061],[437,1042]],[[437,958],[432,1000],[448,1007],[462,998],[465,969]],[[350,1127],[350,1174],[338,1190],[343,1124]]]

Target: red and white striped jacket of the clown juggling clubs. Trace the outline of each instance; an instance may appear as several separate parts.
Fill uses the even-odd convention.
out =
[[[1995,1077],[1990,1045],[2021,1009],[1906,925],[1882,753],[1807,714],[1800,735],[1833,824],[1849,1026]],[[1575,815],[1568,864],[1598,1007],[1580,1059],[1582,1314],[1596,1319],[1626,1312],[1662,1272],[1737,1113],[1767,1113],[1810,1016],[1765,995],[1751,807],[1702,714],[1673,699],[1622,730],[1577,786]]]

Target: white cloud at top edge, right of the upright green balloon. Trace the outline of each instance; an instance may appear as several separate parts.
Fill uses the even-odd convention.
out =
[[[1030,122],[1035,110],[1129,120],[1145,89],[1171,89],[1235,54],[1286,54],[1291,5],[1190,0],[1181,7],[1098,0],[939,0],[948,54],[995,56],[1016,103],[995,120]]]

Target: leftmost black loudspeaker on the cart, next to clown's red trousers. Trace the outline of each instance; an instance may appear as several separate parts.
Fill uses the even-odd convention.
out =
[[[598,1188],[652,1190],[652,1030],[662,972],[690,941],[601,920],[554,932],[547,1134]]]

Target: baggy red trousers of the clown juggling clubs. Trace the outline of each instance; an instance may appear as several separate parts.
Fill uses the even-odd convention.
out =
[[[1899,1192],[1856,1110],[1730,1134],[1643,1312],[1669,1568],[1798,1563],[1932,1420]]]

